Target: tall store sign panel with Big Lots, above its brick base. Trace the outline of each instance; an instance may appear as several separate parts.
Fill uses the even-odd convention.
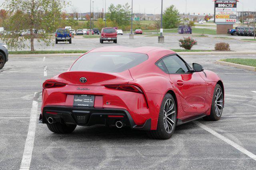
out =
[[[236,4],[238,0],[213,0],[214,21],[216,24],[234,24],[236,22]]]

